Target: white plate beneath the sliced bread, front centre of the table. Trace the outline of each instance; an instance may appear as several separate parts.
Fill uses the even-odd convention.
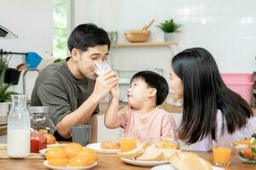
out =
[[[125,163],[129,163],[131,165],[142,166],[142,167],[154,167],[157,165],[169,163],[169,161],[136,161],[136,160],[126,159],[123,157],[121,157],[121,160],[125,161]]]

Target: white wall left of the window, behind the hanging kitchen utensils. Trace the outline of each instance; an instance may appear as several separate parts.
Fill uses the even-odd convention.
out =
[[[53,1],[52,0],[1,0],[0,25],[13,31],[18,39],[0,39],[0,48],[12,52],[36,52],[42,57],[53,52]],[[9,67],[24,63],[25,56],[13,55]],[[36,75],[36,74],[34,74]],[[28,74],[27,82],[34,81]],[[21,75],[22,76],[22,75]],[[14,87],[22,93],[22,78]],[[32,89],[33,83],[27,83]]]

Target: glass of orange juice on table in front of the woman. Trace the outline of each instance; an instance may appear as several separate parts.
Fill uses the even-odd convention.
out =
[[[231,160],[231,148],[230,144],[224,144],[224,142],[218,142],[213,140],[213,162],[218,166],[228,166]]]

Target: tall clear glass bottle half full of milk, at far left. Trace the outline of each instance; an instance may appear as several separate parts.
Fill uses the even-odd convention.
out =
[[[7,156],[22,158],[30,153],[30,116],[26,107],[26,95],[11,95],[7,130]]]

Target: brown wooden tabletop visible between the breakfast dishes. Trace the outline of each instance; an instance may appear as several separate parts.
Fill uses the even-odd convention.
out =
[[[209,152],[196,152],[199,156],[207,161],[212,162],[212,153]],[[1,170],[28,170],[28,169],[48,169],[43,165],[44,159],[0,159]],[[146,170],[150,167],[137,167],[129,164],[125,164],[120,161],[119,156],[116,154],[97,154],[98,164],[93,169],[108,169],[108,170]],[[232,156],[231,164],[229,167],[224,167],[227,170],[255,170],[256,164],[242,163],[237,156]]]

